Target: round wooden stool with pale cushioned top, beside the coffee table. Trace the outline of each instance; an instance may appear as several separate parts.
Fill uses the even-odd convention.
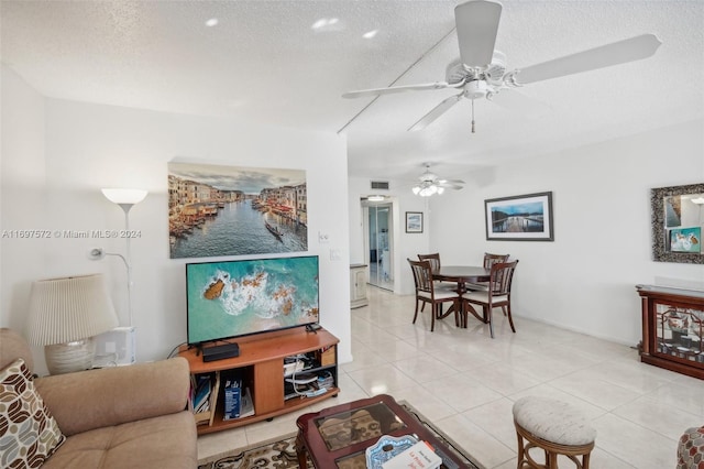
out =
[[[578,468],[590,467],[596,430],[570,404],[540,396],[521,397],[514,404],[514,425],[518,436],[518,469],[556,469],[559,455],[570,458]],[[530,455],[534,448],[544,451],[544,465]]]

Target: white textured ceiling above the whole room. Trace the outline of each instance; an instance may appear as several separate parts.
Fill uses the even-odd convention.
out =
[[[477,100],[474,134],[469,100],[424,131],[406,131],[452,90],[341,98],[394,81],[444,80],[459,55],[457,3],[3,0],[0,52],[48,97],[344,128],[350,174],[373,178],[413,178],[425,162],[440,175],[470,174],[704,117],[700,0],[503,1],[496,50],[508,69],[642,33],[662,46],[644,61],[507,91],[535,100],[537,114]]]

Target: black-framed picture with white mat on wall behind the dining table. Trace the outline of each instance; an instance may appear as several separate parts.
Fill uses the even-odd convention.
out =
[[[551,192],[486,199],[484,211],[487,240],[554,240]]]

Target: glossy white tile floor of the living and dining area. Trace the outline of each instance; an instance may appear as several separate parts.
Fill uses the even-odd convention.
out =
[[[427,312],[410,324],[413,296],[374,287],[369,296],[369,306],[352,309],[354,361],[340,366],[340,396],[305,412],[388,393],[487,469],[516,467],[512,405],[524,395],[552,396],[584,412],[597,430],[595,469],[674,468],[680,434],[704,424],[704,381],[641,363],[627,346],[520,317],[512,334],[498,309],[494,339],[471,317],[468,329],[448,317],[430,332]],[[299,414],[202,436],[199,456],[295,432]]]

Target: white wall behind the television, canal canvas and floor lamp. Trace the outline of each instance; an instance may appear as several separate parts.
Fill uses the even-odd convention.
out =
[[[3,69],[4,73],[4,69]],[[8,83],[12,95],[16,84]],[[36,96],[36,95],[34,95]],[[24,112],[28,99],[10,102],[9,113]],[[7,102],[3,102],[3,112]],[[133,261],[133,310],[138,328],[138,359],[153,360],[166,356],[186,339],[185,271],[189,260],[168,258],[167,163],[190,161],[212,164],[301,168],[308,183],[308,252],[320,255],[321,324],[341,339],[340,361],[351,360],[349,228],[346,199],[346,142],[336,134],[294,131],[253,126],[230,119],[144,111],[46,99],[45,119],[33,112],[28,132],[45,128],[45,151],[37,149],[26,157],[21,145],[3,152],[4,166],[16,167],[13,174],[36,171],[46,174],[44,184],[32,179],[12,179],[2,174],[2,228],[21,229],[38,226],[48,230],[105,230],[124,227],[124,215],[100,193],[101,187],[139,187],[150,190],[144,201],[130,212],[131,228],[141,238],[131,244]],[[3,142],[8,134],[3,119]],[[4,143],[3,143],[4,144]],[[4,150],[4,146],[3,146]],[[6,160],[11,162],[6,164]],[[19,186],[19,188],[18,188]],[[9,196],[26,194],[32,204],[25,211],[10,217]],[[45,204],[38,203],[44,199]],[[43,217],[36,216],[42,212]],[[318,232],[329,234],[329,243],[318,243]],[[23,326],[23,308],[32,280],[86,272],[108,275],[116,307],[125,323],[125,269],[116,258],[89,261],[90,248],[102,247],[124,252],[123,240],[52,239],[45,242],[3,240],[2,325]],[[25,265],[21,277],[12,275],[14,266],[4,253],[19,261],[34,255],[40,248],[43,259]],[[341,260],[332,261],[331,250]],[[198,258],[206,261],[208,258]]]

